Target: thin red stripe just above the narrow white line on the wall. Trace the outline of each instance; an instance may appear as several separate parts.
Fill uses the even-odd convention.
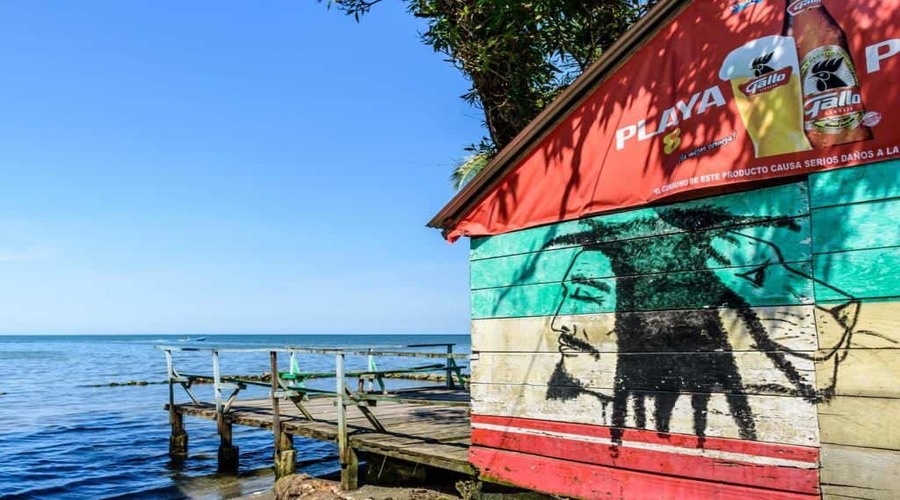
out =
[[[516,417],[494,417],[488,415],[472,415],[472,423],[485,423],[521,427],[552,432],[565,432],[581,436],[599,438],[611,437],[611,427],[601,425],[574,424],[569,422],[551,422],[547,420],[532,420]],[[679,446],[682,448],[704,448],[707,450],[744,453],[759,457],[783,458],[800,462],[818,463],[819,449],[811,446],[796,446],[776,443],[763,443],[759,441],[744,441],[741,439],[728,439],[707,437],[701,445],[700,438],[687,434],[661,434],[656,431],[643,429],[623,429],[622,439],[639,443],[662,444]]]

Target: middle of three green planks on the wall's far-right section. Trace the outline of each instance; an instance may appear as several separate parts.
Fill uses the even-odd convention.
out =
[[[898,246],[898,221],[900,199],[817,208],[812,213],[813,253]]]

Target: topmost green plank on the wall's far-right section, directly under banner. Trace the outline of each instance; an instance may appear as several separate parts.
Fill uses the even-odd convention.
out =
[[[840,168],[809,176],[813,208],[900,196],[900,160]]]

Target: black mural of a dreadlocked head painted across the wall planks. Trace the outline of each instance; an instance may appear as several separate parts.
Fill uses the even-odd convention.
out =
[[[854,333],[877,335],[855,330],[857,300],[813,278],[808,263],[791,262],[773,243],[805,244],[806,228],[795,220],[701,206],[659,209],[622,224],[587,220],[582,226],[545,247],[578,248],[550,324],[561,357],[547,398],[598,398],[604,408],[600,423],[613,427],[614,442],[621,442],[623,428],[644,429],[649,420],[658,432],[669,432],[682,397],[690,399],[693,431],[703,437],[713,394],[724,395],[738,435],[756,439],[748,393],[827,401]],[[771,297],[812,304],[814,283],[845,302],[751,307]],[[833,330],[827,336],[833,344],[821,346],[819,354],[815,328],[799,327],[811,324],[812,307],[820,328]],[[610,311],[613,318],[584,311]],[[814,363],[825,364],[828,373],[826,380],[820,375],[818,388]],[[615,369],[597,370],[598,364]]]

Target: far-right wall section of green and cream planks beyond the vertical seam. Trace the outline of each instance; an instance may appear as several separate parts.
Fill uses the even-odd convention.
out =
[[[818,404],[822,491],[898,498],[900,161],[812,175],[809,186],[819,356],[840,356],[817,366],[820,385],[835,380],[835,397]]]

